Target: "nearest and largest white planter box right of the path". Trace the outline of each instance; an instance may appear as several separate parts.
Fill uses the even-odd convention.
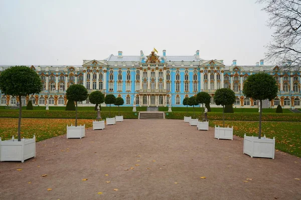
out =
[[[260,139],[258,137],[246,136],[243,137],[243,153],[251,157],[275,157],[275,137],[272,139],[266,138],[265,135]]]

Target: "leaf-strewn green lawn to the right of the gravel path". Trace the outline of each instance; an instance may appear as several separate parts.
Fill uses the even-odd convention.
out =
[[[223,121],[211,121],[210,126],[223,126]],[[233,126],[233,134],[243,137],[258,136],[259,122],[225,121],[225,126]],[[262,122],[261,135],[275,137],[275,148],[289,154],[301,156],[301,122]]]

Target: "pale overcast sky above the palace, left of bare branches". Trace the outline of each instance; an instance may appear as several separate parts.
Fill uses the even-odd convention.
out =
[[[255,0],[0,0],[1,64],[82,64],[110,54],[253,65],[272,30]]]

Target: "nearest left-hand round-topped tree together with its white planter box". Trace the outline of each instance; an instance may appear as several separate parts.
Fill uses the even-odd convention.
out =
[[[42,89],[40,76],[27,66],[13,66],[0,74],[0,90],[21,101],[22,96],[39,93]],[[36,156],[36,137],[21,139],[22,103],[19,103],[18,140],[2,141],[0,138],[0,161],[22,161]]]

